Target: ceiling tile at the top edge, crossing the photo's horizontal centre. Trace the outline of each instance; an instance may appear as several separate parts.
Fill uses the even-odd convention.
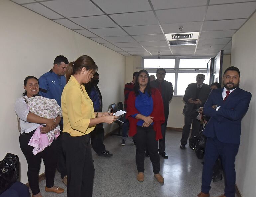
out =
[[[148,0],[93,0],[104,12],[122,13],[151,10]]]

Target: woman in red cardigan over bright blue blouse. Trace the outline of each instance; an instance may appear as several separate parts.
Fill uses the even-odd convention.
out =
[[[136,75],[134,91],[127,100],[127,114],[130,122],[129,136],[136,142],[137,180],[144,180],[144,155],[146,147],[150,155],[154,176],[158,182],[164,183],[159,174],[158,140],[162,139],[161,124],[165,122],[163,100],[156,88],[150,87],[150,78],[146,70]]]

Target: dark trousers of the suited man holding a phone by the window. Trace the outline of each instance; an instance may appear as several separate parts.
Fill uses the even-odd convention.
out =
[[[192,123],[192,132],[189,138],[189,145],[194,146],[196,137],[200,130],[200,121],[196,119],[198,116],[198,113],[193,110],[190,114],[185,114],[184,116],[184,126],[182,129],[182,138],[181,138],[181,144],[186,145],[187,140],[189,138],[190,133],[190,127]]]

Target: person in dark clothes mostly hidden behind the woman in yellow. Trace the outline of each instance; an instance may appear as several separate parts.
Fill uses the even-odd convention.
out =
[[[95,73],[91,82],[84,84],[85,90],[93,102],[94,112],[102,112],[102,96],[97,86],[98,83],[99,74]],[[91,132],[91,146],[99,156],[111,157],[113,154],[109,153],[103,144],[104,136],[105,130],[103,128],[103,124],[97,124],[95,129]]]

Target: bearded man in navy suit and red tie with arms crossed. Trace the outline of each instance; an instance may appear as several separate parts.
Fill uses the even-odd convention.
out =
[[[210,116],[204,135],[207,137],[202,174],[202,191],[198,197],[209,197],[212,170],[220,156],[225,173],[225,194],[235,196],[235,156],[241,135],[241,120],[249,108],[251,93],[239,88],[240,71],[229,67],[223,76],[224,88],[212,90],[203,112]]]

